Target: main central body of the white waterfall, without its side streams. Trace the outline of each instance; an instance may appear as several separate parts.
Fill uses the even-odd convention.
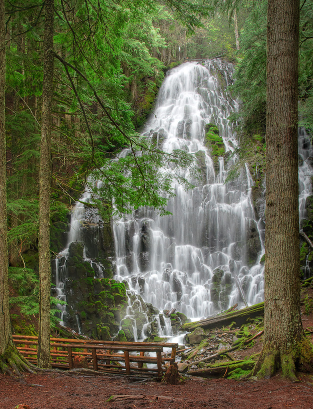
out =
[[[227,120],[237,108],[225,91],[231,74],[232,65],[220,60],[170,71],[143,134],[168,153],[187,146],[197,156],[202,182],[190,179],[197,184],[192,190],[175,185],[169,216],[143,208],[114,224],[115,278],[126,279],[160,310],[176,308],[192,319],[242,304],[236,275],[248,303],[263,299],[262,223],[255,218],[248,167],[224,184],[224,157],[214,162],[205,146],[208,123],[218,126],[225,155],[237,144]]]

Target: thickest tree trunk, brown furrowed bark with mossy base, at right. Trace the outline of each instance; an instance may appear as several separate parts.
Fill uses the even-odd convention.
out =
[[[283,376],[295,379],[306,342],[299,280],[298,30],[299,1],[269,0],[264,339],[254,370],[260,377],[281,367]]]

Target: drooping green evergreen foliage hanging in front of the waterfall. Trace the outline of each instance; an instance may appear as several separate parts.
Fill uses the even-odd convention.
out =
[[[185,150],[164,154],[160,149],[150,149],[144,139],[139,139],[135,147],[141,154],[134,155],[130,151],[119,160],[103,162],[101,169],[93,172],[94,180],[101,179],[102,186],[96,187],[90,180],[89,187],[95,194],[94,202],[103,217],[110,216],[112,212],[130,213],[133,208],[144,205],[153,206],[165,214],[164,206],[168,198],[174,195],[172,179],[192,187],[178,172],[179,168],[194,162],[194,157]],[[113,197],[114,208],[108,204]]]

